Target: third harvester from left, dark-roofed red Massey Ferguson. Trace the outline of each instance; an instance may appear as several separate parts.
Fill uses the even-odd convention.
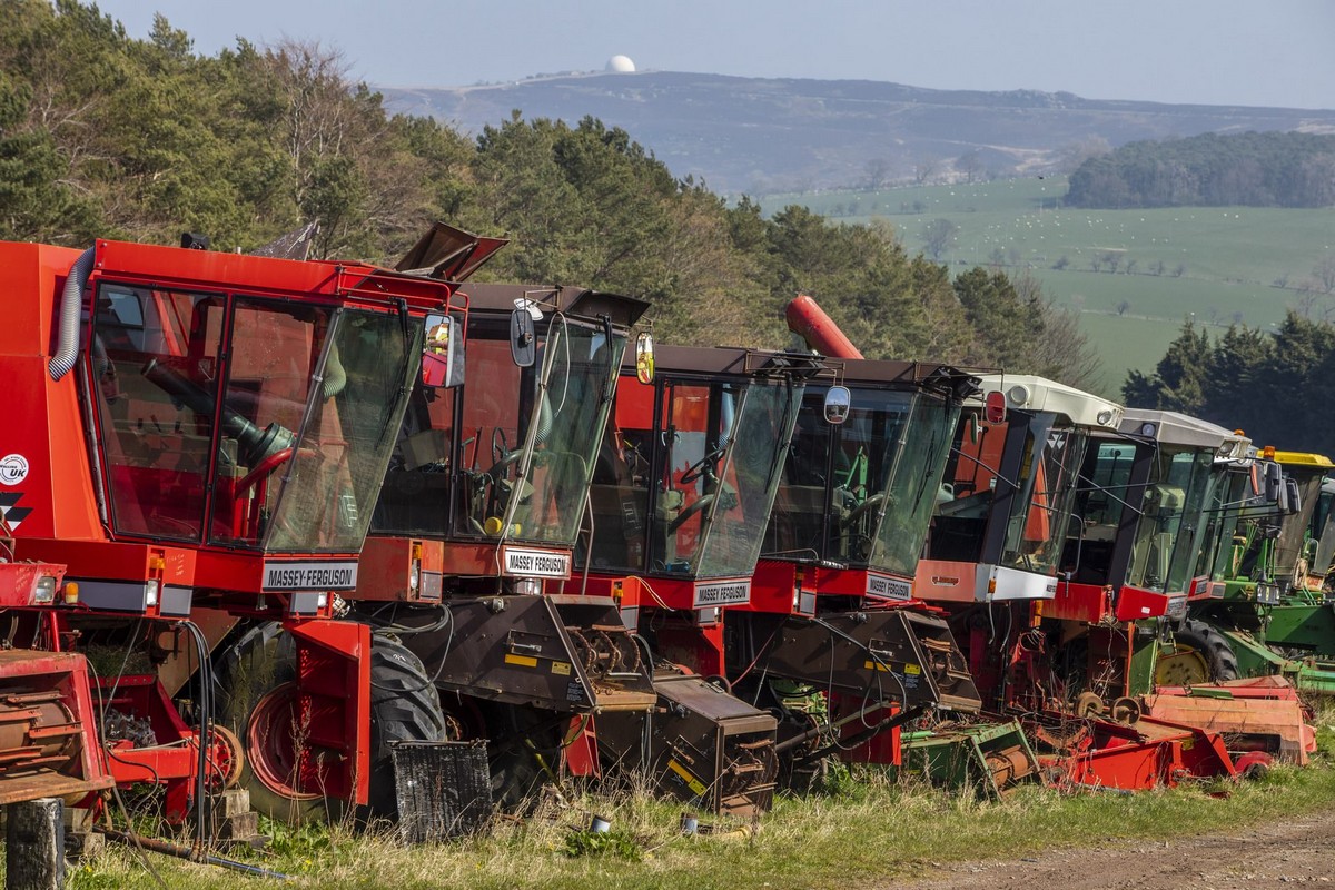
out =
[[[726,607],[750,596],[778,467],[809,355],[662,347],[653,386],[642,362],[625,382],[590,491],[581,587],[619,603],[658,659],[649,715],[598,717],[577,750],[643,770],[668,793],[713,810],[766,809],[777,778],[776,721],[728,693]]]

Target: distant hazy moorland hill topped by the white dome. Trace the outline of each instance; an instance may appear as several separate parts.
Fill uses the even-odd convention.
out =
[[[762,195],[904,181],[977,152],[980,173],[1048,172],[1080,145],[1204,132],[1335,133],[1335,111],[1104,101],[1067,92],[922,89],[865,80],[587,73],[461,88],[380,88],[391,112],[478,133],[526,119],[619,127],[674,175]],[[874,176],[873,176],[874,169]]]

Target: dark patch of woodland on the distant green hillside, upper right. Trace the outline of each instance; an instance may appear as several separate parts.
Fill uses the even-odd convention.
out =
[[[1128,143],[1073,173],[1068,207],[1330,207],[1335,136],[1204,133]]]

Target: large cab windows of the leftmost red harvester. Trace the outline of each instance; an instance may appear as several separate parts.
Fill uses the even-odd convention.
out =
[[[421,354],[398,315],[103,283],[91,352],[117,532],[360,548]]]

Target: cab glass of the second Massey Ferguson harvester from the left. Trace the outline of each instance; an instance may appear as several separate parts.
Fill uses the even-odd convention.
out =
[[[518,368],[507,339],[470,327],[459,534],[574,544],[625,348],[557,318],[539,360]]]

